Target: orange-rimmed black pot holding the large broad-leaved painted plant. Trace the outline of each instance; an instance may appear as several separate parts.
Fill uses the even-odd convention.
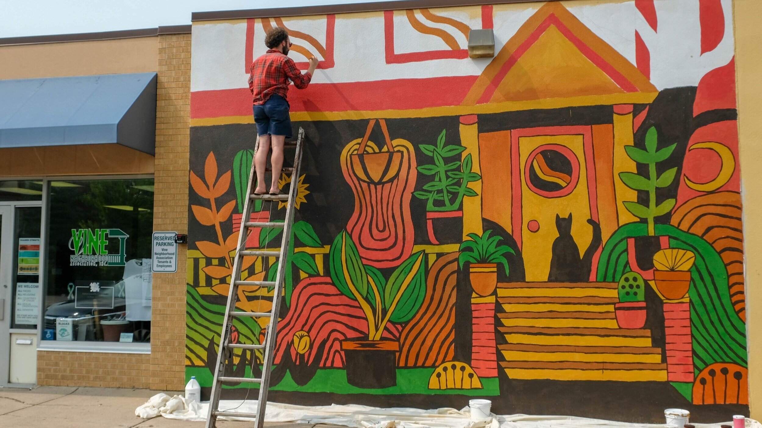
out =
[[[347,383],[357,388],[389,388],[397,385],[399,343],[392,340],[341,341]]]

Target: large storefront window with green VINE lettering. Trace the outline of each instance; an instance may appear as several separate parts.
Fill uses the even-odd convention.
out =
[[[153,180],[57,183],[43,340],[149,343]]]

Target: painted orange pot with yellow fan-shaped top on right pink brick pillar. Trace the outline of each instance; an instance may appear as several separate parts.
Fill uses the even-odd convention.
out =
[[[654,255],[654,283],[664,299],[685,297],[690,288],[690,268],[695,261],[696,254],[680,248],[667,248]]]

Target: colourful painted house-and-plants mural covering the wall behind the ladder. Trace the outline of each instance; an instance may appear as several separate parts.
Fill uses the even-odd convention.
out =
[[[282,319],[234,323],[239,343],[277,334],[272,399],[748,414],[729,0],[195,23],[187,376],[212,382],[255,140],[248,65],[274,26],[319,66],[289,94],[307,140],[305,174],[279,182],[299,187]],[[494,30],[493,58],[468,57],[473,29]],[[284,214],[258,202],[251,220]],[[277,263],[245,257],[242,279]],[[271,308],[267,288],[238,294]],[[231,357],[261,372],[260,354]]]

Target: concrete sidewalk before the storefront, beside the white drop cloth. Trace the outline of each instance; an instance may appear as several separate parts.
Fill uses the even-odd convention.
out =
[[[142,420],[135,409],[161,391],[120,388],[41,386],[0,388],[0,426],[13,428],[203,428],[203,422],[155,417]],[[167,392],[169,395],[178,392]],[[252,422],[219,421],[225,428],[251,428]],[[334,425],[266,423],[268,428],[327,428]]]

